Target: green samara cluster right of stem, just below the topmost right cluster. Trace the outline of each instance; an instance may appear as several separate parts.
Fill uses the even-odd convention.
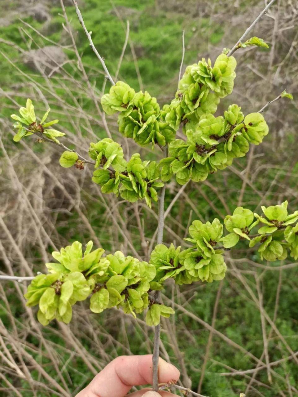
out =
[[[204,181],[209,173],[223,170],[234,158],[245,156],[249,143],[258,145],[267,133],[262,114],[244,118],[236,104],[229,106],[224,117],[202,115],[195,129],[186,131],[186,141],[175,139],[170,143],[170,157],[160,161],[161,179],[168,181],[174,173],[180,185],[189,179]]]

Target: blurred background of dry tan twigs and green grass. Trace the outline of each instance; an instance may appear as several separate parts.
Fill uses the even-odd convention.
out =
[[[264,2],[85,0],[80,7],[112,75],[148,90],[162,105],[176,91],[182,31],[183,68],[202,57],[214,61]],[[37,114],[52,108],[65,143],[80,152],[107,130],[127,156],[139,151],[119,135],[116,119],[102,114],[100,97],[109,87],[71,1],[2,0],[0,11],[0,272],[43,272],[53,249],[75,240],[148,258],[155,212],[103,196],[91,182],[91,167],[60,168],[54,146],[12,141],[9,115],[30,97],[40,103]],[[270,49],[236,52],[235,89],[218,114],[234,102],[245,113],[258,111],[285,88],[297,97],[297,23],[298,2],[277,0],[254,31]],[[257,211],[288,199],[290,210],[298,208],[297,106],[295,100],[269,106],[269,135],[233,166],[203,183],[169,183],[165,243],[180,245],[192,220],[222,220],[237,205]],[[155,156],[150,148],[141,155]],[[227,252],[226,261],[221,282],[169,283],[163,299],[172,299],[177,315],[162,321],[162,357],[180,368],[181,384],[204,395],[298,395],[298,263],[262,262],[254,249]],[[0,395],[74,396],[117,355],[152,352],[153,332],[142,319],[117,310],[91,314],[77,305],[69,326],[42,327],[25,307],[24,291],[23,284],[0,283]]]

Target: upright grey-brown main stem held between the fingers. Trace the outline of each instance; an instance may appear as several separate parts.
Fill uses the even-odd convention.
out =
[[[164,149],[164,157],[168,156],[167,148]],[[159,212],[158,212],[158,228],[157,228],[157,244],[162,244],[162,237],[164,232],[164,195],[166,193],[166,185],[164,185],[160,191],[159,196]],[[155,301],[160,302],[160,291],[155,293]],[[155,327],[154,330],[154,342],[153,342],[153,390],[158,391],[159,389],[159,376],[158,376],[158,363],[159,363],[159,344],[160,344],[160,323]]]

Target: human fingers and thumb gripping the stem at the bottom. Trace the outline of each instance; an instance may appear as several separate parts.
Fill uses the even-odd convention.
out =
[[[133,386],[152,384],[152,355],[120,356],[111,361],[76,397],[125,397]],[[174,365],[159,358],[159,382],[178,380]],[[156,393],[148,388],[130,393],[129,397],[170,397],[167,391]]]

